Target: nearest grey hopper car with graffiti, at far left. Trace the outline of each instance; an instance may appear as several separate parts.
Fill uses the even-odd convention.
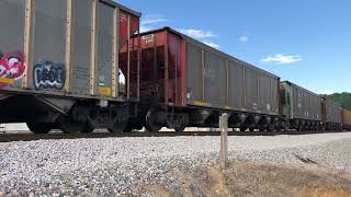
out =
[[[1,0],[0,121],[120,130],[138,102],[139,18],[112,0]]]

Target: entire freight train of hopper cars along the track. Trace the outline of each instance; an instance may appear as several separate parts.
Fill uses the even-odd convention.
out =
[[[2,0],[0,123],[183,131],[227,113],[242,131],[350,127],[327,97],[172,28],[139,33],[139,18],[112,0]]]

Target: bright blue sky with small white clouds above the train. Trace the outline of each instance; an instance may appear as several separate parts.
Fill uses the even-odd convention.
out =
[[[350,0],[117,0],[141,31],[170,26],[320,94],[351,92]]]

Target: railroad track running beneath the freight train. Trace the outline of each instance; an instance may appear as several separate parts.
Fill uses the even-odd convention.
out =
[[[312,135],[343,131],[228,131],[228,136],[281,136],[281,135]],[[179,136],[220,136],[219,131],[185,131],[185,132],[93,132],[93,134],[0,134],[0,142],[59,140],[59,139],[99,139],[99,138],[128,138],[128,137],[179,137]]]

